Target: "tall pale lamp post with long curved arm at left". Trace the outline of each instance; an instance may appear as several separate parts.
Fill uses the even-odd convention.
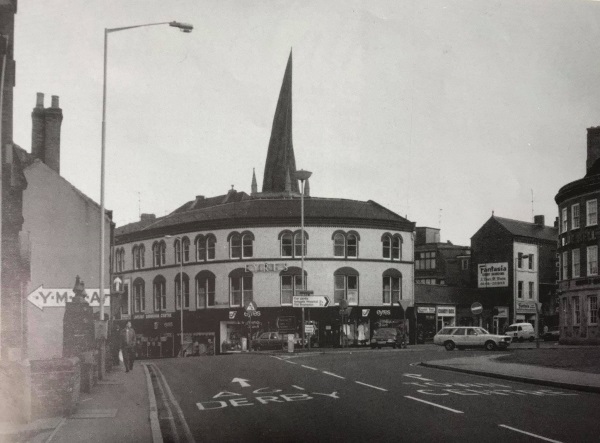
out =
[[[128,29],[143,28],[147,26],[158,26],[158,25],[169,25],[174,28],[179,28],[182,32],[192,32],[194,27],[187,23],[181,22],[160,22],[160,23],[146,23],[143,25],[124,26],[120,28],[105,28],[104,29],[104,74],[103,74],[103,86],[102,86],[102,144],[101,144],[101,160],[100,160],[100,277],[98,280],[98,287],[100,292],[100,320],[104,320],[104,238],[105,238],[105,220],[104,220],[104,158],[106,153],[106,69],[107,69],[107,56],[108,56],[108,34],[118,31],[126,31]],[[104,367],[105,358],[104,343],[100,349],[100,358],[102,359],[101,367]],[[103,372],[103,369],[100,373]]]

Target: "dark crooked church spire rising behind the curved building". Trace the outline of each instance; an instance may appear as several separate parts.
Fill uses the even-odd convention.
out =
[[[263,177],[263,192],[286,191],[287,174],[294,177],[295,172],[296,158],[292,143],[292,52],[290,51],[273,118]],[[290,185],[292,192],[300,192],[298,180],[291,180]]]

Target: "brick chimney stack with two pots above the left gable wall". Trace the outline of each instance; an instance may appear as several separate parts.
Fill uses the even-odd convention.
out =
[[[44,108],[44,94],[38,92],[31,119],[31,154],[60,174],[60,127],[63,115],[58,96],[53,95],[50,108]]]

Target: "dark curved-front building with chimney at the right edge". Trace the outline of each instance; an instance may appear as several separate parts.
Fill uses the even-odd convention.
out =
[[[600,127],[587,130],[587,173],[556,194],[560,343],[600,344]]]

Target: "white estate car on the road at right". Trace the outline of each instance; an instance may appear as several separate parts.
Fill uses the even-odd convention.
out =
[[[506,349],[511,341],[512,338],[508,335],[490,334],[477,326],[446,326],[433,337],[433,342],[444,346],[447,351],[475,347],[482,347],[488,351]]]

